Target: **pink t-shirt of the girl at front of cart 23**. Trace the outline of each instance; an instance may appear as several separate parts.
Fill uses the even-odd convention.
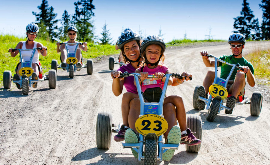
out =
[[[158,72],[166,73],[168,70],[170,69],[168,69],[165,65],[162,65],[162,66],[158,65],[158,67],[154,69],[150,69],[147,65],[145,65],[143,67],[143,70],[142,70],[142,67],[140,67],[141,72],[148,72],[148,74],[155,74]],[[160,83],[161,83],[161,89],[163,89],[164,82],[161,82],[161,79],[158,79],[158,80],[145,79],[143,81],[143,92],[148,88],[160,87]]]

